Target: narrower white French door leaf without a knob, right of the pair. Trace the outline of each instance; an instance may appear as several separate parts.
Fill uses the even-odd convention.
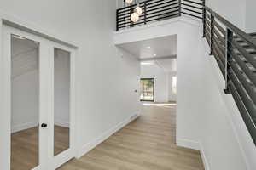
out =
[[[73,48],[51,42],[54,62],[54,114],[50,115],[52,168],[75,155],[74,56]]]

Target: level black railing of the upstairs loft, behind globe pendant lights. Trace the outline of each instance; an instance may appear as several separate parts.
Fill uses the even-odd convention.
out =
[[[198,19],[202,19],[203,6],[205,0],[148,0],[143,1],[140,7],[143,14],[137,23],[133,23],[130,19],[131,14],[137,7],[137,4],[125,8],[119,8],[116,11],[116,30],[125,29],[134,26],[146,25],[148,23],[160,20],[167,20],[173,17],[186,14]]]

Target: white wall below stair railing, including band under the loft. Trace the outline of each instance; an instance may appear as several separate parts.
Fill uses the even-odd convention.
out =
[[[177,144],[200,149],[207,170],[253,170],[255,145],[234,100],[224,95],[196,23],[181,17],[119,31],[115,42],[177,34]]]

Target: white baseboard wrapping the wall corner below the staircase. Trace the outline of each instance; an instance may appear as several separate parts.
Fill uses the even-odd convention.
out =
[[[199,150],[201,153],[201,159],[203,161],[205,170],[210,170],[209,163],[207,161],[207,156],[200,142],[189,140],[189,139],[177,139],[177,146],[189,148],[192,150]]]

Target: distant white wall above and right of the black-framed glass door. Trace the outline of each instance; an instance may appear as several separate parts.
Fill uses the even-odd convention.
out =
[[[141,65],[141,78],[154,78],[154,102],[168,102],[168,74],[159,65]]]

